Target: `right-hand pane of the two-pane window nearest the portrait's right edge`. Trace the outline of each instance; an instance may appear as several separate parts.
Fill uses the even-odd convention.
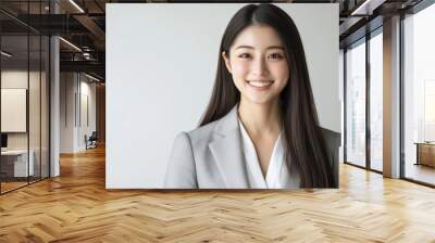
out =
[[[382,33],[370,40],[370,163],[382,171],[383,153],[383,38]]]

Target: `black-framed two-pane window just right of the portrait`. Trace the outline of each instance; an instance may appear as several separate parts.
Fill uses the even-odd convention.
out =
[[[380,172],[383,170],[382,35],[382,27],[373,30],[368,38],[348,47],[345,56],[346,163]]]

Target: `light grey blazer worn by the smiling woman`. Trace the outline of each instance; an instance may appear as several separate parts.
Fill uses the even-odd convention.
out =
[[[167,163],[167,189],[249,189],[237,105],[224,117],[179,133]],[[339,133],[322,129],[338,184]]]

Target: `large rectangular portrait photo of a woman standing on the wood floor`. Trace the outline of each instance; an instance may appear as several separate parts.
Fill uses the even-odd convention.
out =
[[[154,8],[163,11],[161,5],[156,4]],[[170,11],[183,12],[189,9],[188,5],[172,7],[173,10]],[[337,31],[334,27],[336,17],[326,20],[332,22],[331,25],[325,24],[327,28],[316,25],[325,21],[322,16],[333,15],[337,11],[336,5],[324,4],[323,12],[330,15],[320,14],[321,20],[318,22],[302,22],[310,26],[310,37],[307,37],[307,28],[296,24],[296,20],[301,22],[299,16],[303,13],[298,15],[286,11],[293,8],[293,13],[301,12],[303,8],[309,8],[308,4],[191,5],[196,4],[190,4],[190,10],[195,13],[200,13],[199,10],[207,5],[223,7],[222,12],[225,13],[226,21],[217,24],[212,16],[206,20],[208,13],[202,11],[204,13],[197,16],[198,22],[183,29],[172,26],[170,21],[160,18],[159,26],[148,28],[142,39],[141,44],[151,47],[141,53],[142,59],[149,61],[137,64],[141,66],[139,69],[142,76],[138,77],[141,81],[127,75],[128,71],[119,76],[115,71],[112,76],[108,75],[109,101],[110,90],[114,90],[112,95],[116,94],[117,100],[123,95],[121,82],[130,86],[129,89],[144,92],[138,91],[136,98],[125,98],[125,105],[113,104],[113,114],[115,111],[126,112],[127,107],[135,106],[129,111],[133,114],[126,112],[125,116],[114,117],[113,126],[117,125],[119,128],[130,124],[139,129],[121,132],[113,127],[114,137],[119,137],[115,141],[127,142],[136,150],[132,150],[130,154],[124,153],[124,150],[128,151],[128,146],[121,142],[113,146],[112,153],[108,149],[107,187],[338,188],[338,55],[324,51],[327,47],[338,44],[335,33],[328,33]],[[108,20],[111,14],[115,15],[115,10],[111,8],[108,11]],[[220,9],[216,8],[216,11]],[[185,16],[188,18],[187,14]],[[110,22],[108,27],[116,29]],[[208,28],[213,29],[212,35],[201,34]],[[165,38],[160,40],[166,43],[170,41],[167,38],[172,37],[174,44],[184,46],[184,49],[158,44],[159,39],[154,34],[164,36]],[[315,38],[313,34],[319,35],[320,39],[312,39]],[[331,38],[327,38],[330,35]],[[108,37],[112,37],[110,30]],[[122,42],[123,51],[128,52],[127,40],[119,42],[120,47]],[[211,47],[212,44],[215,47]],[[189,50],[194,46],[197,46],[192,48],[196,50]],[[113,51],[114,55],[122,51],[117,50]],[[203,53],[207,53],[208,57],[203,57]],[[184,59],[184,62],[176,62],[178,57]],[[214,63],[200,64],[211,59]],[[196,68],[191,67],[196,64]],[[203,65],[203,68],[200,65]],[[333,72],[322,72],[320,67],[315,69],[322,65],[332,67]],[[111,73],[110,65],[108,67],[108,72]],[[154,72],[156,68],[160,69],[160,73]],[[147,74],[149,72],[154,75]],[[173,76],[164,78],[169,73]],[[208,77],[207,80],[203,77]],[[111,89],[111,78],[119,80],[120,86],[114,85]],[[139,82],[142,85],[136,85]],[[110,102],[108,103],[110,107]],[[161,108],[158,103],[162,104]],[[137,111],[134,111],[136,108]],[[108,124],[110,125],[110,122]],[[142,126],[146,128],[142,129]],[[108,130],[111,130],[110,126]],[[163,145],[161,133],[164,131],[172,136],[166,136],[170,140],[165,141],[170,142]],[[148,142],[142,142],[145,140]],[[159,151],[159,144],[164,148],[160,151],[165,152],[156,152]],[[153,151],[156,156],[152,155]],[[149,159],[144,161],[144,155],[149,153]],[[121,157],[121,154],[125,156]],[[138,156],[135,158],[134,154]],[[149,181],[154,177],[157,182],[128,182],[128,177],[139,176],[140,168],[145,171],[142,178],[148,175]],[[123,172],[125,175],[119,175]]]

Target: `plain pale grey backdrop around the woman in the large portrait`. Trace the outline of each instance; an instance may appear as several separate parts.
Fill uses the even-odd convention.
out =
[[[107,4],[107,188],[162,187],[173,139],[197,127],[243,5]],[[340,131],[338,4],[277,5],[301,34],[320,123]]]

